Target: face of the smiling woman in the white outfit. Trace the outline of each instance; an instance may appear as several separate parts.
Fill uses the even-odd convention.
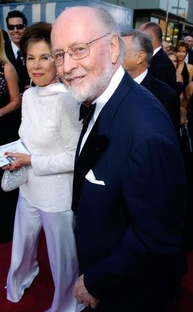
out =
[[[28,45],[26,67],[28,75],[38,87],[56,83],[56,67],[47,58],[50,52],[49,44],[44,40]]]

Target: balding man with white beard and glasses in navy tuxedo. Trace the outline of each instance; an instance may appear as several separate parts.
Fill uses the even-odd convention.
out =
[[[74,168],[74,295],[89,311],[165,311],[181,277],[186,193],[169,116],[121,67],[125,44],[106,10],[65,10],[51,41],[60,77],[91,108]]]

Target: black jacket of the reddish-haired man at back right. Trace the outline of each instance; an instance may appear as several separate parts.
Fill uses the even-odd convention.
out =
[[[149,71],[151,75],[162,80],[176,90],[176,70],[174,64],[163,49],[160,49],[153,55]]]

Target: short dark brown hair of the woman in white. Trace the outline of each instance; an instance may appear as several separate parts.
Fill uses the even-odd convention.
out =
[[[24,31],[19,46],[22,55],[26,58],[28,45],[35,42],[44,41],[51,46],[51,24],[45,21],[39,21],[32,24]]]

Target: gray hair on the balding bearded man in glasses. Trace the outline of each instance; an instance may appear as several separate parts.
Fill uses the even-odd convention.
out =
[[[110,15],[110,13],[107,10],[104,10],[103,8],[94,8],[96,16],[99,18],[99,21],[101,21],[101,24],[98,25],[98,27],[101,29],[101,26],[104,28],[106,33],[109,34],[116,34],[119,40],[119,56],[118,60],[120,64],[123,62],[124,57],[126,55],[126,45],[124,40],[121,37],[121,33],[119,31],[119,26],[115,19]]]

